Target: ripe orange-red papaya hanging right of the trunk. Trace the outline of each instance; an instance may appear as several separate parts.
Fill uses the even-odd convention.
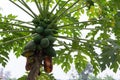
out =
[[[45,56],[45,58],[44,58],[44,70],[47,73],[52,72],[52,70],[53,70],[52,57]]]

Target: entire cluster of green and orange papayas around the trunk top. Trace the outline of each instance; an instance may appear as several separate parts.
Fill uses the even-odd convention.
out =
[[[34,55],[36,55],[37,51],[42,53],[40,53],[40,55],[42,55],[41,59],[43,59],[42,61],[44,62],[43,65],[45,72],[50,73],[52,71],[52,57],[56,56],[56,51],[53,48],[53,43],[56,40],[54,35],[58,32],[56,23],[50,25],[51,19],[53,18],[50,18],[50,15],[48,15],[47,19],[38,16],[33,20],[33,24],[35,26],[33,33],[35,36],[33,37],[33,40],[26,44],[22,53],[22,55],[27,58],[27,71],[31,70],[35,63]]]

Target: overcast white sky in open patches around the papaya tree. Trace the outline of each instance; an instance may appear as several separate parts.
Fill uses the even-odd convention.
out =
[[[37,12],[36,9],[34,9],[34,11]],[[28,16],[21,9],[17,8],[15,5],[11,4],[8,0],[0,0],[0,13],[4,15],[12,13],[14,15],[17,15],[18,19],[25,21],[29,21],[29,19],[31,19],[30,16]],[[85,20],[85,19],[87,19],[87,17],[83,15],[81,20]],[[10,52],[9,56],[10,56],[10,60],[7,63],[4,70],[10,71],[11,77],[15,77],[15,78],[21,77],[25,73],[25,63],[26,63],[25,57],[21,56],[19,58],[16,58],[12,51]],[[0,66],[0,68],[2,68],[2,66]],[[60,66],[55,65],[53,68],[53,74],[55,78],[61,80],[67,80],[70,77],[71,72],[74,72],[74,67],[72,67],[72,70],[68,74],[65,74],[63,70],[60,68]],[[117,74],[115,74],[111,70],[106,69],[104,72],[99,74],[99,76],[102,77],[104,77],[105,75],[111,75],[114,78],[116,78],[116,80],[120,80],[120,71],[118,71]]]

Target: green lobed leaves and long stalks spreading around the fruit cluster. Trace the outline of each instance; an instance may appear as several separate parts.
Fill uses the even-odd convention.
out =
[[[120,3],[119,0],[9,0],[13,4],[21,3],[19,8],[33,19],[39,15],[25,3],[40,2],[47,8],[57,22],[58,34],[54,43],[57,56],[54,64],[61,65],[64,72],[75,64],[81,72],[90,62],[94,74],[106,67],[117,71],[120,64]],[[25,3],[24,3],[25,2]],[[114,5],[114,6],[113,6]],[[46,7],[44,7],[46,6]],[[38,9],[40,10],[40,9]],[[42,15],[41,11],[40,14]],[[81,15],[86,14],[88,21],[80,21]],[[45,14],[46,15],[46,14]],[[43,15],[45,17],[45,15]],[[52,14],[51,14],[52,15]],[[17,16],[0,14],[0,63],[5,66],[9,60],[8,54],[14,51],[21,56],[25,44],[33,39],[35,29],[32,20],[17,20]],[[85,33],[84,33],[85,32]],[[21,41],[22,40],[22,41]],[[98,51],[100,50],[100,51]]]

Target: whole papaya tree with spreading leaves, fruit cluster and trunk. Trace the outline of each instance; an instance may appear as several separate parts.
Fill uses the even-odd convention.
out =
[[[0,14],[0,63],[5,66],[9,52],[27,59],[28,80],[46,73],[53,65],[68,72],[74,63],[78,72],[87,63],[94,74],[120,64],[119,0],[9,0],[31,19]],[[38,13],[28,3],[33,3]],[[87,20],[80,18],[86,14]],[[23,14],[24,15],[24,14]]]

